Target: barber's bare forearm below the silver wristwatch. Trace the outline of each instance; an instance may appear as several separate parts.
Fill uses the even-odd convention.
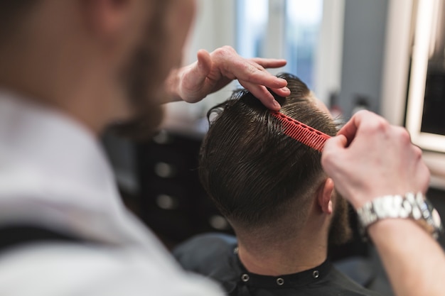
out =
[[[409,219],[385,219],[369,227],[397,296],[444,295],[445,253]]]

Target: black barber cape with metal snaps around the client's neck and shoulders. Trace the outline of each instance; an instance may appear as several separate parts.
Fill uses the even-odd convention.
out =
[[[216,280],[230,296],[380,296],[350,280],[329,261],[291,275],[249,273],[237,256],[237,239],[225,234],[195,236],[173,255],[186,270]]]

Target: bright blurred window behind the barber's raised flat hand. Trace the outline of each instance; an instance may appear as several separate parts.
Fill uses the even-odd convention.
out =
[[[284,71],[313,89],[322,16],[323,0],[237,1],[237,51],[245,57],[285,58]]]

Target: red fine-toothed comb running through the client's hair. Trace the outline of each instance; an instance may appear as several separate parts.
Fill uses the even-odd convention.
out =
[[[322,133],[321,131],[306,126],[306,124],[286,116],[278,111],[271,111],[272,115],[279,119],[283,126],[283,132],[300,143],[309,146],[315,150],[322,151],[324,144],[331,136]]]

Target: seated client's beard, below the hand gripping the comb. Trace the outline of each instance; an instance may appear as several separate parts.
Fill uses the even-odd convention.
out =
[[[347,243],[353,237],[349,223],[348,202],[336,191],[337,204],[334,209],[331,227],[329,229],[329,246],[338,246]]]

